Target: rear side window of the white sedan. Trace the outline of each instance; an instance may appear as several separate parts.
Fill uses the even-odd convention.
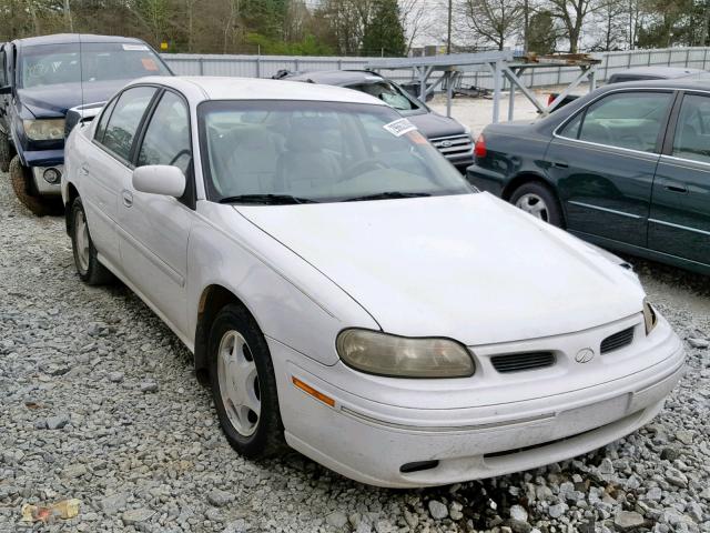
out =
[[[115,102],[101,143],[124,161],[129,161],[135,132],[153,94],[152,87],[135,87],[124,91]]]

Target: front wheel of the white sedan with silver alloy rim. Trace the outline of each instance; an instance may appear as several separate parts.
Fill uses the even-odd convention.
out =
[[[214,405],[230,445],[252,460],[283,454],[274,365],[254,319],[241,305],[224,306],[212,323],[207,349]]]

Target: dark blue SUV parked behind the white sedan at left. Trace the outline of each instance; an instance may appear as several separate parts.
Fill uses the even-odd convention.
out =
[[[170,74],[139,39],[57,34],[2,44],[0,170],[10,170],[18,199],[36,214],[58,203],[71,108],[95,114],[130,80]]]

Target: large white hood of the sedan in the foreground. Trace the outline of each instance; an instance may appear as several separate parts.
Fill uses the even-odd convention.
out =
[[[642,308],[632,273],[488,193],[235,209],[389,333],[489,344]]]

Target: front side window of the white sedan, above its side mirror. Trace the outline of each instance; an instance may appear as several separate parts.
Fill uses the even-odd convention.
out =
[[[172,164],[186,173],[191,159],[187,108],[176,94],[165,92],[145,130],[138,165]]]

